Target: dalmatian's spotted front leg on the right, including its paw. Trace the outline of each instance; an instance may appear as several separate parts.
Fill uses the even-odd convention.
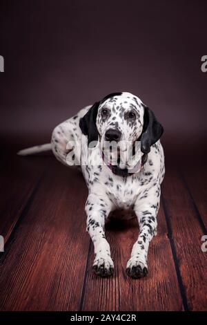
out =
[[[130,277],[145,277],[148,274],[148,247],[157,230],[160,185],[144,189],[135,203],[135,213],[139,222],[139,236],[133,245],[131,257],[126,266]]]

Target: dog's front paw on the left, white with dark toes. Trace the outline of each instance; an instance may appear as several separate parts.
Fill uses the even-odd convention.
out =
[[[96,257],[92,270],[101,277],[110,277],[114,272],[114,263],[110,257]]]

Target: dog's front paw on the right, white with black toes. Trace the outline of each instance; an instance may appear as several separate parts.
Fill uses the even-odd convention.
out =
[[[126,273],[129,277],[132,277],[133,279],[146,277],[146,275],[148,274],[148,266],[137,259],[131,258],[127,263]]]

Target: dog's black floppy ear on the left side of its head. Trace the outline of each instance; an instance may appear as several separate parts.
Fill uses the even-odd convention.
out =
[[[98,108],[99,102],[95,102],[79,122],[81,131],[85,136],[88,136],[88,147],[90,142],[99,140],[99,132],[96,124]]]

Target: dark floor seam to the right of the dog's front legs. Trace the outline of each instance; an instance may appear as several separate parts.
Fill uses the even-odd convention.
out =
[[[165,214],[165,217],[166,217],[166,224],[167,224],[167,228],[168,228],[168,239],[170,241],[170,248],[171,248],[171,251],[172,251],[172,257],[173,257],[173,261],[174,261],[174,264],[175,264],[175,271],[176,271],[176,274],[177,274],[177,281],[178,281],[178,284],[179,284],[181,299],[182,299],[182,302],[183,302],[183,305],[184,305],[184,310],[189,311],[188,300],[187,300],[187,297],[186,297],[186,290],[184,288],[181,273],[180,273],[180,270],[179,270],[179,262],[178,262],[177,253],[176,253],[176,250],[175,250],[174,239],[172,238],[172,227],[171,227],[171,223],[170,223],[170,218],[168,216],[168,211],[167,211],[167,208],[166,208],[166,204],[164,202],[164,197],[162,195],[161,195],[161,203],[163,205],[163,210],[164,210],[164,214]]]

